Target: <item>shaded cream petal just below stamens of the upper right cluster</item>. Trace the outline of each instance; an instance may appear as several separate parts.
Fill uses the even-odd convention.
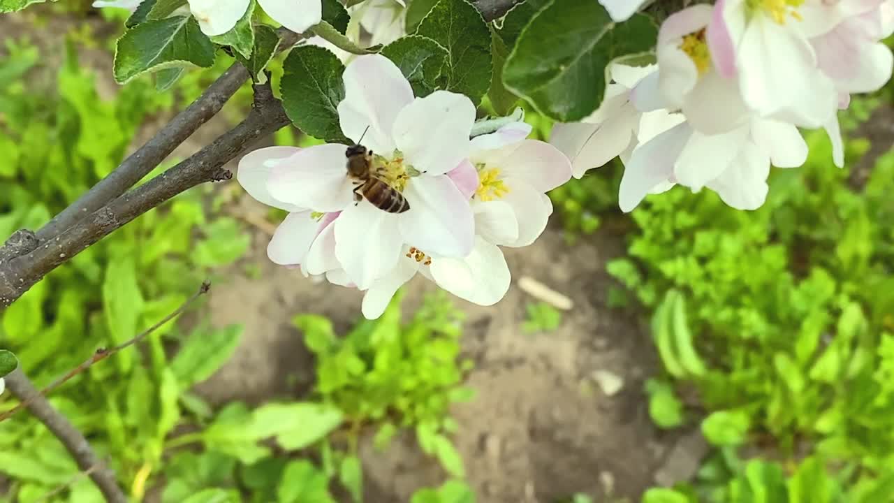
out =
[[[698,132],[729,132],[746,123],[749,110],[735,80],[707,72],[683,102],[683,115]]]

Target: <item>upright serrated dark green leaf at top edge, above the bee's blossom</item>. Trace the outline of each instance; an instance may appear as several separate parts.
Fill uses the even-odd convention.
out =
[[[447,49],[439,87],[465,94],[476,106],[491,86],[491,33],[467,0],[440,0],[416,31]]]

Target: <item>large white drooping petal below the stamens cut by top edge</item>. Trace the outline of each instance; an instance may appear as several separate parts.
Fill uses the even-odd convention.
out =
[[[758,114],[819,127],[834,113],[832,81],[816,67],[813,48],[797,31],[755,14],[738,54],[742,98]]]

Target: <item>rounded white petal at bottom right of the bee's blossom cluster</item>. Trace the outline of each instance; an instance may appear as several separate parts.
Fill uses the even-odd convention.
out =
[[[434,258],[430,268],[434,282],[462,299],[478,305],[498,303],[509,291],[509,266],[500,248],[475,238],[472,252],[463,259]]]

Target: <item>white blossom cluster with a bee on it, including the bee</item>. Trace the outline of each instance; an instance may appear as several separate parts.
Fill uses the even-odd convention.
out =
[[[470,138],[476,111],[467,97],[414,97],[382,55],[358,56],[342,78],[339,124],[362,153],[329,143],[258,149],[240,160],[246,191],[289,212],[270,259],[365,291],[367,318],[417,273],[473,303],[502,299],[510,271],[500,246],[543,233],[552,214],[545,192],[569,180],[569,159],[526,140],[523,123]],[[366,172],[349,174],[349,153],[363,156],[351,162],[366,163]]]

